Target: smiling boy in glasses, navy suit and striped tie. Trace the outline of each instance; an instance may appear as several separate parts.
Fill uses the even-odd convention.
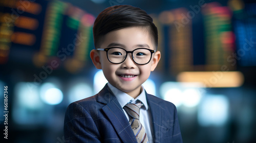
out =
[[[93,27],[90,56],[109,81],[96,95],[71,103],[67,142],[182,142],[173,103],[147,94],[142,83],[160,60],[157,27],[139,8],[106,8]]]

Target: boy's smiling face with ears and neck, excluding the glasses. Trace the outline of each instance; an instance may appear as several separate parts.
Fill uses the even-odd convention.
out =
[[[100,47],[97,48],[111,47],[120,47],[126,51],[133,51],[137,48],[156,50],[150,34],[141,27],[127,27],[110,32],[103,36]],[[141,92],[141,84],[156,68],[160,60],[160,52],[153,53],[151,61],[145,65],[136,64],[131,53],[127,53],[125,61],[120,64],[111,63],[106,56],[106,51],[92,50],[91,59],[97,69],[102,69],[105,78],[114,87],[135,98]]]

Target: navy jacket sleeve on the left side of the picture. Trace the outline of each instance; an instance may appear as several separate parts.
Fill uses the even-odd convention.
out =
[[[100,134],[90,113],[79,103],[71,103],[64,121],[66,142],[101,142]]]

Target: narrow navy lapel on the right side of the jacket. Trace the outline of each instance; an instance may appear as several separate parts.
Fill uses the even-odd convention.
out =
[[[150,107],[152,122],[154,128],[153,139],[154,142],[160,141],[160,126],[161,126],[161,108],[158,103],[153,99],[153,95],[146,93],[147,104]],[[154,102],[153,102],[154,101]]]

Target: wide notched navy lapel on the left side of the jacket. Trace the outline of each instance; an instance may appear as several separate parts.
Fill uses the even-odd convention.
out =
[[[105,85],[105,87],[99,92],[97,101],[106,104],[102,107],[102,110],[109,118],[122,141],[137,142],[131,125],[124,115],[122,107],[109,89],[108,85]]]

